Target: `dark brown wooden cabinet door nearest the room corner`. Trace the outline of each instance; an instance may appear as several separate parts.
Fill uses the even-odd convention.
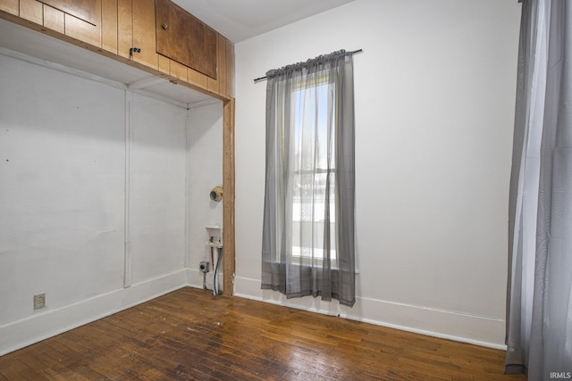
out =
[[[216,79],[217,33],[170,0],[156,0],[156,51]]]

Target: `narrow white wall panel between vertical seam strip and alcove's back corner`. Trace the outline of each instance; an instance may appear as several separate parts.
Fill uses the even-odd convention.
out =
[[[185,266],[187,112],[142,95],[130,108],[131,282]]]

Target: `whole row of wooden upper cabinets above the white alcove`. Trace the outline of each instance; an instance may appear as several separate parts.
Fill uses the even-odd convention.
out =
[[[234,46],[170,0],[0,0],[0,17],[228,100]]]

